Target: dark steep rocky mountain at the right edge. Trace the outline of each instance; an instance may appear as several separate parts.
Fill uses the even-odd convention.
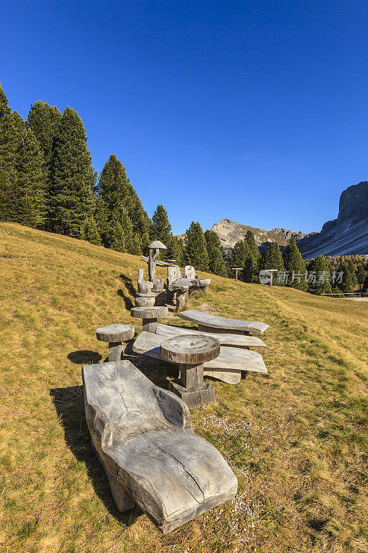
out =
[[[298,247],[304,259],[318,255],[368,254],[368,182],[349,186],[340,196],[338,218],[321,232],[302,237]]]

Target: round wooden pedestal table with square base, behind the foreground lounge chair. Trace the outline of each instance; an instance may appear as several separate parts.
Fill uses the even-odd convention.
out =
[[[169,382],[170,390],[190,408],[215,400],[215,388],[203,379],[203,364],[220,355],[220,341],[211,336],[175,336],[161,344],[161,357],[179,366],[180,377]]]

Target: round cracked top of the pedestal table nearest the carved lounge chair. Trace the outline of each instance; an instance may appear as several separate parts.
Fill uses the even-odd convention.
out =
[[[171,363],[199,365],[220,355],[220,341],[193,334],[173,336],[162,341],[160,353]]]

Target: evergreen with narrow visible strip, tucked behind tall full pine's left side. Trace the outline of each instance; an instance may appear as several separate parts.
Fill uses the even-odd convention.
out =
[[[61,120],[61,112],[56,106],[49,106],[46,102],[31,104],[28,113],[28,123],[39,142],[46,169],[46,202],[52,189],[52,156],[55,136]]]

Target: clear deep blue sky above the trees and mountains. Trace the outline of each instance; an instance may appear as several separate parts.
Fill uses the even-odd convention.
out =
[[[0,82],[84,122],[177,234],[311,232],[368,180],[368,1],[1,2]]]

